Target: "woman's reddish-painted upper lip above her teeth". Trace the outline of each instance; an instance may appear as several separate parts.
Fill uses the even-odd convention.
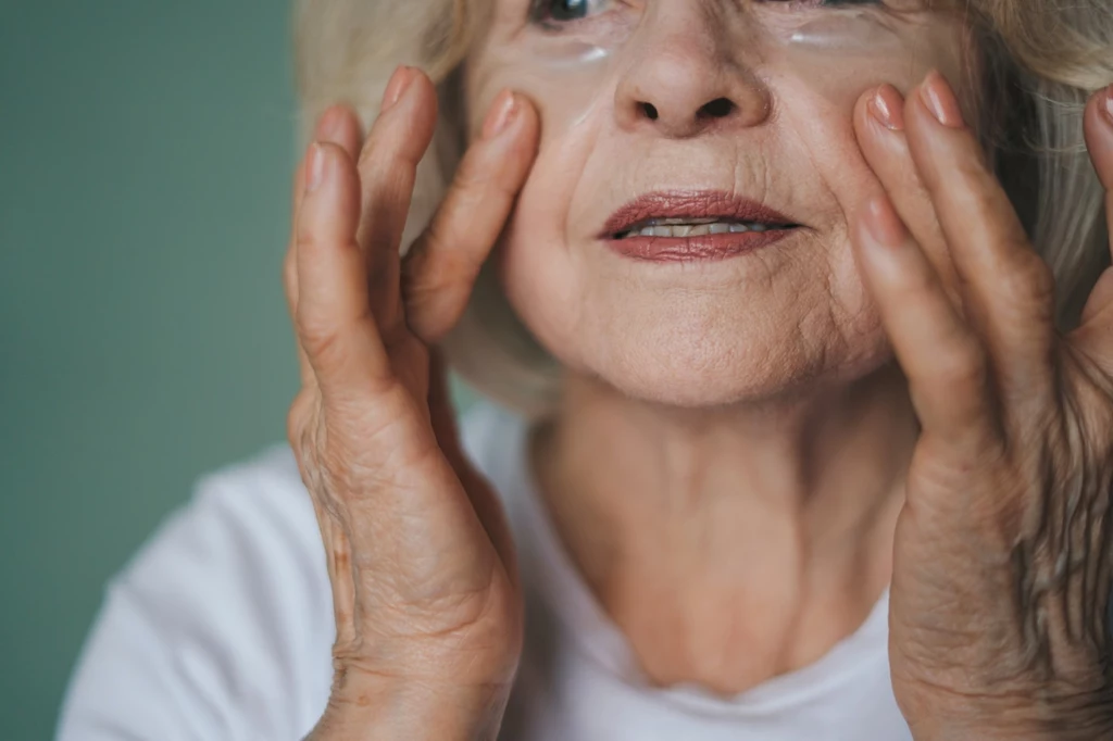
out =
[[[650,219],[678,218],[797,226],[792,219],[768,206],[722,190],[657,190],[634,198],[611,214],[599,236],[612,239]]]

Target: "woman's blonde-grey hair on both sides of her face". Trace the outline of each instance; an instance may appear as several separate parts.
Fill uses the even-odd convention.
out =
[[[374,120],[397,65],[437,83],[441,120],[418,168],[406,244],[424,227],[462,150],[460,65],[490,0],[296,0],[301,139],[329,105]],[[982,130],[998,175],[1058,286],[1060,323],[1077,315],[1109,264],[1104,192],[1091,167],[1082,118],[1089,96],[1113,82],[1109,0],[952,0],[978,38]],[[481,393],[526,414],[555,402],[560,367],[518,320],[485,269],[444,349]]]

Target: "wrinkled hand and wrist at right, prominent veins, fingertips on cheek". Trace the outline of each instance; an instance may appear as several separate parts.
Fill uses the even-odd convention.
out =
[[[937,73],[855,112],[854,224],[923,432],[894,546],[889,661],[918,740],[1113,738],[1113,268],[1077,329]],[[1113,102],[1085,113],[1113,223]],[[1113,230],[1113,229],[1111,229]]]

